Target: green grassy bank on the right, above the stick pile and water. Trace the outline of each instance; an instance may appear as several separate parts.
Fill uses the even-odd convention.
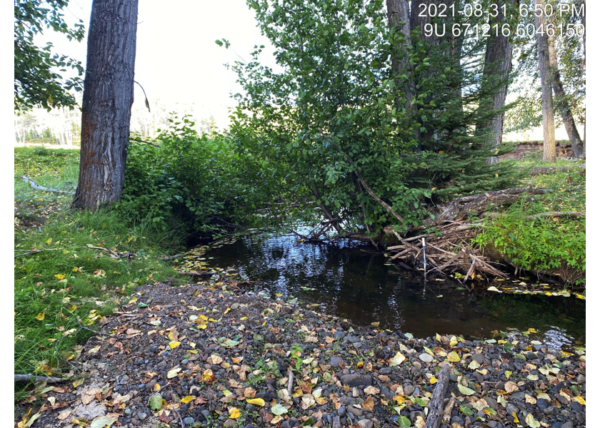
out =
[[[526,175],[522,185],[544,188],[547,193],[525,195],[518,203],[499,210],[499,216],[488,217],[476,242],[493,246],[526,270],[552,272],[566,283],[584,285],[586,218],[577,213],[586,212],[586,174],[584,168],[576,168],[583,162],[543,163],[541,153],[510,162],[526,171],[570,168]]]

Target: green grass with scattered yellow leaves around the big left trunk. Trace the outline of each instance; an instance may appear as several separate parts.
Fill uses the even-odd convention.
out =
[[[16,374],[60,374],[93,335],[81,325],[98,330],[101,317],[129,301],[134,287],[175,277],[160,260],[179,244],[173,230],[111,211],[72,211],[71,194],[35,190],[21,179],[74,190],[78,170],[79,151],[15,149]],[[26,394],[18,389],[16,399]]]

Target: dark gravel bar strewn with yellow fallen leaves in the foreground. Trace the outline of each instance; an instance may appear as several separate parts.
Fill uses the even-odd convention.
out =
[[[586,355],[536,332],[416,339],[235,282],[146,285],[92,327],[31,426],[424,427],[442,365],[442,427],[586,425]]]

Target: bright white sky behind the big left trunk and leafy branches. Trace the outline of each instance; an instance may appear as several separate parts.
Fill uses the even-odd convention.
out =
[[[71,0],[64,11],[67,21],[81,19],[89,26],[91,1]],[[69,42],[61,34],[44,35],[56,52],[86,60],[86,41]],[[215,44],[231,42],[229,49]],[[270,46],[256,27],[254,13],[244,0],[139,1],[135,79],[144,86],[150,103],[160,100],[169,108],[191,105],[198,116],[214,116],[217,126],[228,123],[227,107],[235,105],[230,93],[241,87],[236,74],[225,68],[240,57],[245,61],[254,45]],[[239,56],[238,56],[239,55]],[[263,54],[264,61],[274,58]],[[144,107],[144,95],[135,88],[135,104]]]

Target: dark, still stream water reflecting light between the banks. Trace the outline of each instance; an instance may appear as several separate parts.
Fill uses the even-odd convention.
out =
[[[206,253],[211,265],[234,266],[261,280],[271,297],[296,297],[303,306],[415,337],[454,334],[493,337],[493,330],[534,328],[547,345],[585,342],[585,302],[571,297],[507,295],[456,290],[454,280],[435,280],[389,263],[369,244],[301,243],[295,235],[254,235]],[[498,337],[496,337],[498,338]]]

